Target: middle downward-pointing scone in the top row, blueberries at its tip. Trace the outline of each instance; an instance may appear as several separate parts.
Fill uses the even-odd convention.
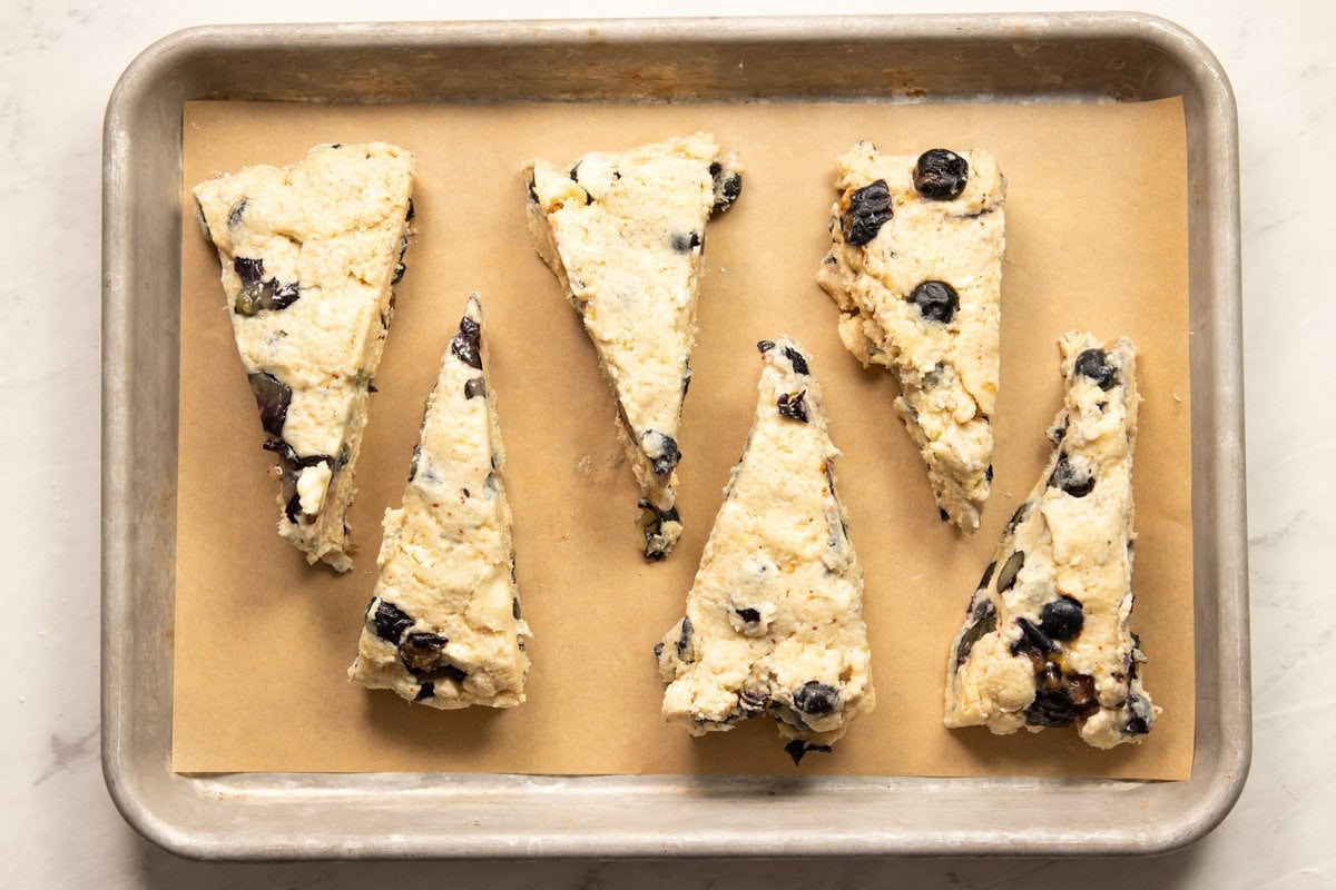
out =
[[[681,535],[673,470],[705,223],[737,197],[740,169],[707,133],[592,152],[568,169],[545,160],[525,167],[529,232],[617,398],[649,559]]]

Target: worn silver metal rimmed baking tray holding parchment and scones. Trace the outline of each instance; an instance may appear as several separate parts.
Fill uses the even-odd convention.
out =
[[[1184,100],[1189,176],[1188,781],[171,771],[183,103],[1169,96]],[[103,770],[127,821],[163,847],[236,859],[1138,854],[1194,841],[1237,799],[1250,758],[1237,124],[1218,63],[1181,28],[1130,13],[195,28],[122,76],[103,164]]]

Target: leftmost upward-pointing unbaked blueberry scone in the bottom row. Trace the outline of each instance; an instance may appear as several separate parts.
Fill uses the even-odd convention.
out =
[[[363,686],[440,709],[514,707],[529,670],[485,355],[474,295],[428,398],[403,504],[385,511],[381,574],[349,669]]]

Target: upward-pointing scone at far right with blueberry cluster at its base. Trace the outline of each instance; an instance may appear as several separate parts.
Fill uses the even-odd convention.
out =
[[[946,725],[1075,723],[1096,747],[1138,742],[1160,709],[1141,689],[1132,615],[1136,347],[1061,340],[1066,402],[1038,484],[1007,523],[951,646]]]

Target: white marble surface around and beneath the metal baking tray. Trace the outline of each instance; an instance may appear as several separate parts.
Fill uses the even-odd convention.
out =
[[[545,5],[381,0],[0,4],[0,516],[11,642],[0,697],[0,883],[37,887],[1331,887],[1336,855],[1336,7],[1141,3],[1197,33],[1238,97],[1244,203],[1255,755],[1236,810],[1200,843],[1130,861],[485,862],[200,865],[139,839],[99,767],[99,195],[103,108],[120,71],[178,28],[219,21],[704,15],[697,0]],[[838,12],[1023,11],[1033,0],[846,0]],[[1097,9],[1108,3],[1071,3]],[[748,13],[830,12],[816,0]],[[741,9],[739,9],[740,12]]]

